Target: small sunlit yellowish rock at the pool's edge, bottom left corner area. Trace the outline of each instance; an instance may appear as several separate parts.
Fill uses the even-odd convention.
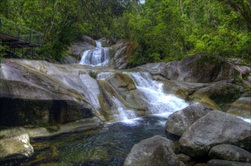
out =
[[[33,152],[28,134],[0,140],[0,160],[30,157]]]

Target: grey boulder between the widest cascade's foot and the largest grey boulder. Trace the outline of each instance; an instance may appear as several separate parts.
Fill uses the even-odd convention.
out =
[[[177,136],[182,136],[189,126],[202,116],[205,116],[209,111],[210,109],[202,104],[192,104],[168,117],[166,131]]]

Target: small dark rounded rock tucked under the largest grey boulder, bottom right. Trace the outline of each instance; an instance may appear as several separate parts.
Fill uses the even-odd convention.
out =
[[[211,159],[222,159],[251,163],[251,153],[242,148],[229,144],[221,144],[214,146],[210,150],[209,156]]]

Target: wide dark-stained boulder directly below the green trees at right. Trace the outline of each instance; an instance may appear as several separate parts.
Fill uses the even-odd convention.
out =
[[[162,68],[162,75],[171,80],[205,83],[236,79],[246,75],[246,71],[216,57],[195,55],[181,61],[168,62]]]

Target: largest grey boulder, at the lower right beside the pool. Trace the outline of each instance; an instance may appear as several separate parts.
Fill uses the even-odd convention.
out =
[[[251,147],[250,123],[220,111],[211,111],[193,123],[179,140],[181,149],[192,157],[206,156],[218,144]]]

